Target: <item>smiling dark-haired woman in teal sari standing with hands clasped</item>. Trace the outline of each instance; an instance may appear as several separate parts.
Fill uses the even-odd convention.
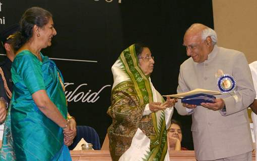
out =
[[[67,145],[76,135],[76,122],[67,111],[59,69],[40,52],[56,35],[52,15],[42,8],[30,8],[20,26],[1,160],[71,160]]]

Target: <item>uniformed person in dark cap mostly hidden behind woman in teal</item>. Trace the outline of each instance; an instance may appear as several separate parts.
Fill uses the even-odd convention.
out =
[[[11,67],[15,53],[12,42],[14,33],[18,29],[19,25],[14,24],[0,33],[0,39],[6,53],[5,60],[0,63],[0,123],[3,123],[6,119],[8,104],[13,92]]]

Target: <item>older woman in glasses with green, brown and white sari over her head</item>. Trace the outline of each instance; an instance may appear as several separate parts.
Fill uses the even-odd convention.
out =
[[[115,160],[169,160],[167,133],[176,99],[166,102],[151,83],[154,57],[145,45],[122,51],[112,66],[114,83],[108,128],[109,149]]]

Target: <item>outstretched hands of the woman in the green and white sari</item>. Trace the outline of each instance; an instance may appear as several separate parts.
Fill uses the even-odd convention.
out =
[[[161,103],[161,102],[151,102],[149,103],[149,109],[152,112],[156,112],[158,110],[165,110],[168,107],[172,107],[175,105],[175,103],[177,102],[177,99],[170,99],[170,97],[167,97],[167,100],[165,103]]]

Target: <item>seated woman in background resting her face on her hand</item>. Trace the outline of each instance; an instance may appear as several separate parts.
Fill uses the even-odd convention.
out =
[[[182,131],[181,123],[172,119],[169,129],[167,130],[169,150],[188,150],[185,147],[181,147]]]

